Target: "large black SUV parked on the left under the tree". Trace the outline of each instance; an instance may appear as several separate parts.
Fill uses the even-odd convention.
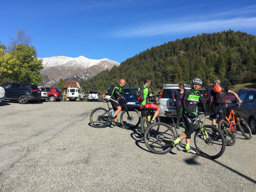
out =
[[[20,104],[34,103],[41,100],[41,91],[37,85],[27,83],[4,83],[5,100],[16,100]]]

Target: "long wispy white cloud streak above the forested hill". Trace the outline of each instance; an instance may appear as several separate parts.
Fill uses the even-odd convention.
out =
[[[207,15],[185,16],[183,20],[150,22],[140,26],[128,26],[116,30],[112,35],[116,38],[137,38],[146,36],[176,34],[180,32],[210,32],[219,30],[244,30],[256,28],[256,6],[228,10]],[[253,14],[253,15],[251,15]],[[225,17],[225,18],[223,18]],[[215,18],[215,19],[212,19]],[[190,20],[190,21],[188,21]]]

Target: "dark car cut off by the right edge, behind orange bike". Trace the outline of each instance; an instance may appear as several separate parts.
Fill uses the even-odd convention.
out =
[[[252,134],[256,134],[256,90],[244,90],[239,94],[239,98],[243,103],[238,107],[234,107],[233,110],[246,120],[252,130]],[[238,100],[235,99],[228,107],[234,106],[237,102]]]

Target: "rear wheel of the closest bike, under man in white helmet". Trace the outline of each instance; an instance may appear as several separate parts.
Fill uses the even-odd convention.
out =
[[[176,137],[172,127],[162,122],[150,125],[144,133],[144,141],[147,148],[155,154],[170,152],[173,148],[172,142]]]

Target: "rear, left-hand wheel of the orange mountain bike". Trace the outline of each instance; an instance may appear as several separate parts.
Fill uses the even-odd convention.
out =
[[[236,143],[236,134],[229,132],[230,124],[225,120],[220,120],[218,123],[218,129],[222,132],[224,138],[226,139],[226,144],[228,146],[233,146]]]

